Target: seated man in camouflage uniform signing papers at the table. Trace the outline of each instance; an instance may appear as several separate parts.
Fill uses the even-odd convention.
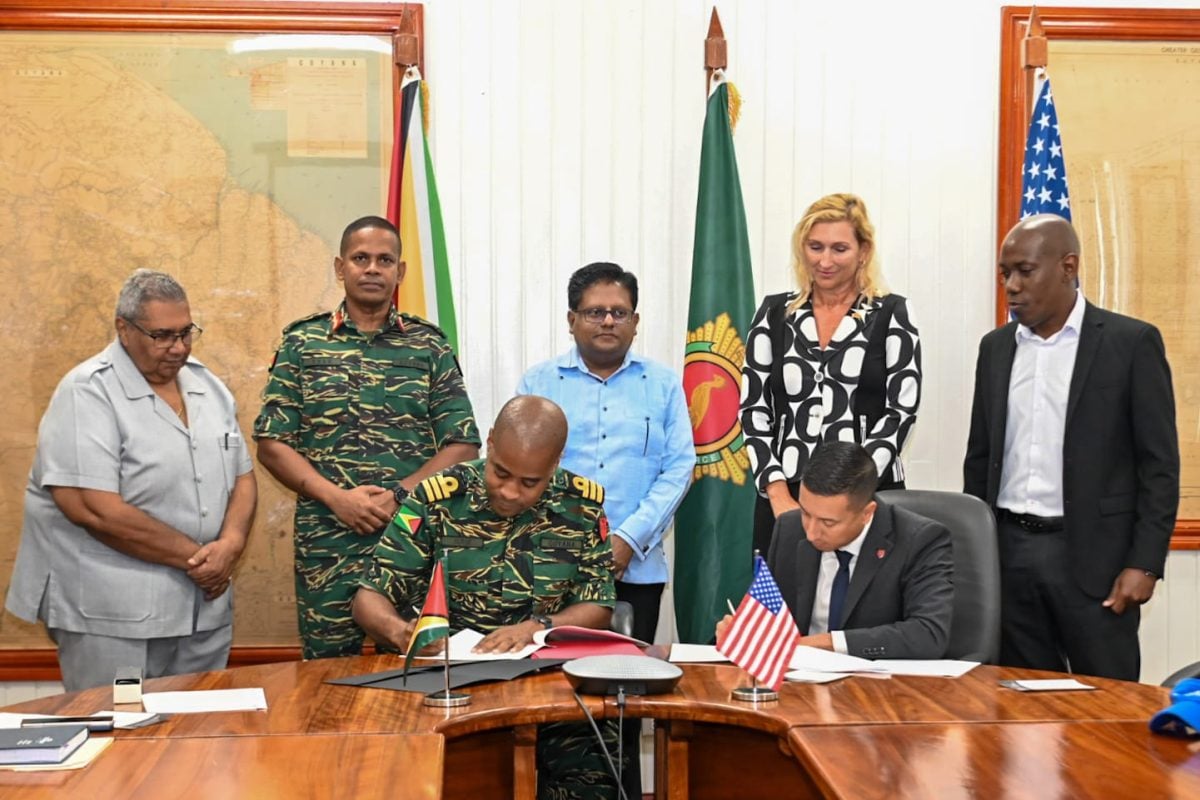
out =
[[[377,642],[407,648],[408,609],[424,602],[433,561],[446,551],[450,626],[486,632],[479,650],[518,650],[554,625],[607,627],[617,595],[604,489],[558,468],[565,443],[566,417],[554,403],[509,401],[487,437],[486,461],[426,479],[404,500],[354,599],[359,625]],[[617,727],[601,726],[616,758]],[[538,796],[617,796],[586,723],[540,728]]]

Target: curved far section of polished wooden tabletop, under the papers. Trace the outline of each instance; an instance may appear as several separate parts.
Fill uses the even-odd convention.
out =
[[[176,715],[149,728],[122,730],[122,738],[235,736],[313,733],[442,733],[448,736],[520,724],[578,720],[571,687],[559,670],[512,681],[467,686],[472,704],[436,710],[413,692],[325,684],[370,672],[396,669],[396,656],[323,658],[239,667],[146,681],[146,691],[245,688],[260,686],[268,710]],[[888,679],[851,676],[833,684],[785,684],[780,699],[758,705],[730,699],[746,684],[745,673],[730,664],[685,664],[674,692],[630,697],[626,716],[736,724],[785,735],[794,726],[838,726],[912,722],[1058,722],[1146,721],[1166,705],[1169,692],[1158,686],[1086,678],[1090,692],[1015,692],[1006,678],[1049,678],[1057,673],[980,666],[962,678]],[[616,717],[612,697],[584,696],[596,716]],[[90,714],[112,708],[107,687],[58,694],[8,710],[46,714]]]

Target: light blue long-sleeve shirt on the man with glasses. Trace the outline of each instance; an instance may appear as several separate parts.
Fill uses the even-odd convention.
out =
[[[610,529],[634,549],[622,581],[666,583],[662,535],[696,464],[679,375],[626,353],[605,380],[571,348],[526,372],[517,393],[547,397],[566,414],[562,464],[604,486]]]

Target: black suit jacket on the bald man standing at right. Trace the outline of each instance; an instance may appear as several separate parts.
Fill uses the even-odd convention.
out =
[[[979,343],[964,491],[996,505],[1016,323]],[[1153,325],[1087,303],[1067,398],[1063,517],[1070,569],[1104,597],[1121,570],[1162,576],[1180,504],[1175,395]]]

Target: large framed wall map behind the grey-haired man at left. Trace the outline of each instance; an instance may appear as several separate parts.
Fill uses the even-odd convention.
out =
[[[10,384],[0,593],[38,420],[61,377],[112,341],[116,293],[133,269],[170,272],[187,289],[205,329],[193,355],[234,392],[251,432],[281,329],[336,305],[342,228],[386,207],[394,37],[406,12],[419,32],[420,11],[0,2],[0,361]],[[258,482],[235,573],[235,662],[298,652],[294,498],[262,469]],[[0,664],[32,649],[17,662],[35,672],[20,676],[40,676],[54,664],[48,648],[41,626],[0,619]]]

